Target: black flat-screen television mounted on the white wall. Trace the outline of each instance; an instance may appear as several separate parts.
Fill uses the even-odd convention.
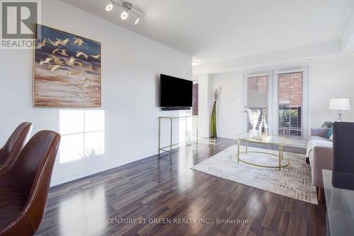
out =
[[[161,74],[161,107],[193,106],[193,81]]]

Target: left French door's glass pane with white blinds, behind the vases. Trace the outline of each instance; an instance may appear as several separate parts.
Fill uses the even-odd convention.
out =
[[[251,111],[261,110],[257,129],[263,114],[268,121],[268,75],[247,78],[247,107]],[[249,115],[247,115],[247,132],[251,130]]]

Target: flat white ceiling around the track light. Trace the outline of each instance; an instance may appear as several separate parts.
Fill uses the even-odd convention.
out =
[[[62,0],[202,62],[340,38],[353,0],[128,0],[142,21],[122,21],[108,0]]]

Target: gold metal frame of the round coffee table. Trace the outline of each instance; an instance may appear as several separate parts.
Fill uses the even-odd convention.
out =
[[[285,159],[285,164],[282,164],[282,160],[283,160],[283,147],[284,144],[282,142],[267,142],[264,140],[261,140],[261,137],[257,137],[260,140],[257,140],[256,138],[252,138],[252,137],[238,137],[238,147],[237,147],[237,163],[239,162],[244,162],[246,164],[251,164],[252,166],[256,166],[256,167],[266,167],[266,168],[278,168],[279,171],[281,170],[281,168],[283,167],[287,167],[289,166],[290,162],[289,160]],[[240,142],[243,141],[246,145],[246,151],[245,152],[240,152]],[[253,142],[253,143],[258,143],[258,144],[263,144],[263,145],[278,145],[278,154],[274,154],[274,153],[270,153],[270,152],[256,152],[256,151],[248,151],[248,143],[249,142]],[[290,140],[289,140],[290,142]],[[255,163],[251,163],[251,162],[246,162],[245,160],[240,158],[240,154],[249,154],[249,153],[261,153],[261,154],[268,154],[270,156],[275,156],[278,157],[278,165],[276,166],[270,166],[270,165],[263,165],[263,164],[255,164]]]

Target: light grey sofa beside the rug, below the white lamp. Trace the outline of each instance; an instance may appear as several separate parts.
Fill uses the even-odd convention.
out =
[[[333,163],[333,142],[326,137],[327,133],[329,133],[329,128],[312,128],[311,137],[309,138],[309,142],[320,141],[324,144],[315,145],[313,150],[309,152],[312,183],[317,187],[318,191],[324,188],[322,169],[332,169]]]

